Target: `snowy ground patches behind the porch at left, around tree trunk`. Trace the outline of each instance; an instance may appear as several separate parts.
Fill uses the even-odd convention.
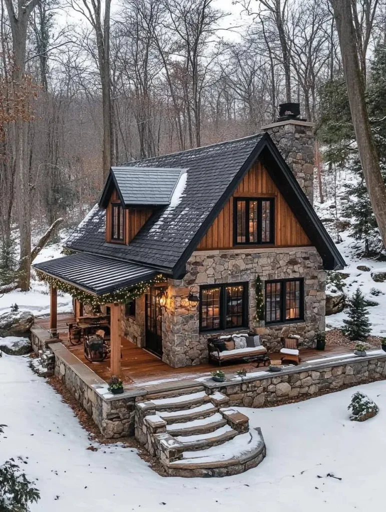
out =
[[[60,231],[60,242],[46,245],[37,255],[34,263],[63,257],[63,242],[68,234],[68,230]],[[42,281],[39,281],[32,270],[31,289],[28,292],[14,290],[0,295],[0,314],[10,311],[12,304],[17,304],[19,311],[31,311],[34,315],[47,314],[50,312],[49,287]],[[57,310],[59,313],[72,311],[71,295],[58,292]]]

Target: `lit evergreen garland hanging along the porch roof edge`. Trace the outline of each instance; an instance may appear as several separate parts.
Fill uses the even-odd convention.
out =
[[[83,302],[84,304],[89,304],[92,307],[104,304],[126,304],[130,301],[133,301],[135,298],[140,297],[143,293],[148,292],[151,286],[158,283],[164,283],[166,281],[164,275],[158,274],[155,276],[155,278],[149,279],[147,281],[141,281],[134,286],[97,296],[88,293],[87,291],[80,290],[79,288],[76,288],[69,283],[65,283],[64,281],[53,278],[51,275],[47,275],[40,270],[36,270],[36,275],[40,281],[44,281],[50,286],[68,293],[76,298],[76,300]]]

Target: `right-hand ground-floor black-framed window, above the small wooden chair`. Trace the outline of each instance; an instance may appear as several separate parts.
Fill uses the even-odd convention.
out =
[[[266,323],[295,322],[303,318],[303,280],[266,281]]]

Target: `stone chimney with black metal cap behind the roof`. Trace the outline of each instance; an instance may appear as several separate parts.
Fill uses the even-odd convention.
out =
[[[261,126],[261,131],[271,136],[311,204],[314,203],[314,126],[300,117],[299,103],[282,103],[276,122]]]

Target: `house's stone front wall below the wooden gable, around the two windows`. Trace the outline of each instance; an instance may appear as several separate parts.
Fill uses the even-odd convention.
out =
[[[270,279],[304,278],[304,322],[265,326],[255,321],[257,275]],[[170,366],[198,365],[207,361],[207,339],[199,332],[199,305],[190,307],[190,286],[199,293],[203,284],[249,283],[249,330],[260,334],[269,352],[282,348],[281,336],[300,336],[299,346],[313,346],[315,336],[325,329],[326,272],[314,247],[275,249],[233,249],[196,251],[187,263],[183,280],[169,280],[168,302],[162,318],[164,361]],[[216,335],[248,329],[217,332]]]

